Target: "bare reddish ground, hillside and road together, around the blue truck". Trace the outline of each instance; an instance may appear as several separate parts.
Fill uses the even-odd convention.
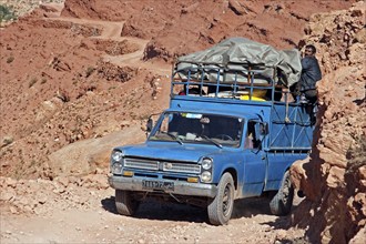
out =
[[[354,1],[154,2],[70,0],[1,30],[1,243],[307,243],[308,226],[289,227],[265,199],[236,202],[225,226],[179,204],[121,216],[108,156],[166,108],[174,57],[231,34],[294,48],[312,13]]]

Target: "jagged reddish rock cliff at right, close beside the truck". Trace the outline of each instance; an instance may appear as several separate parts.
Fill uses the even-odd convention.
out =
[[[313,242],[366,241],[365,18],[364,2],[315,14],[301,42],[317,47],[325,74],[311,159],[292,169],[306,194],[294,223]]]

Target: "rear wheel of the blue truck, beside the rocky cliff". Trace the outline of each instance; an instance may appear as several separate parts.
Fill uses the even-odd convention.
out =
[[[294,200],[294,186],[289,179],[289,172],[286,171],[282,179],[278,192],[270,202],[271,212],[274,215],[283,216],[291,212]]]

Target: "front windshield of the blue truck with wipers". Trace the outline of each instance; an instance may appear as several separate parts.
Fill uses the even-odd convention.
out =
[[[243,134],[243,124],[244,120],[241,118],[170,112],[163,114],[162,123],[157,124],[157,130],[149,140],[237,148]]]

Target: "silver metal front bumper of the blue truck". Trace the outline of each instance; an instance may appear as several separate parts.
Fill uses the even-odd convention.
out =
[[[159,180],[157,180],[159,181]],[[162,180],[160,180],[162,181]],[[110,175],[108,182],[111,187],[124,191],[140,191],[153,192],[154,190],[146,190],[142,187],[142,179],[124,177],[120,175]],[[161,190],[159,190],[161,191]],[[174,190],[164,191],[165,193],[173,193],[190,196],[209,196],[215,197],[217,186],[213,184],[189,183],[182,181],[174,181]]]

